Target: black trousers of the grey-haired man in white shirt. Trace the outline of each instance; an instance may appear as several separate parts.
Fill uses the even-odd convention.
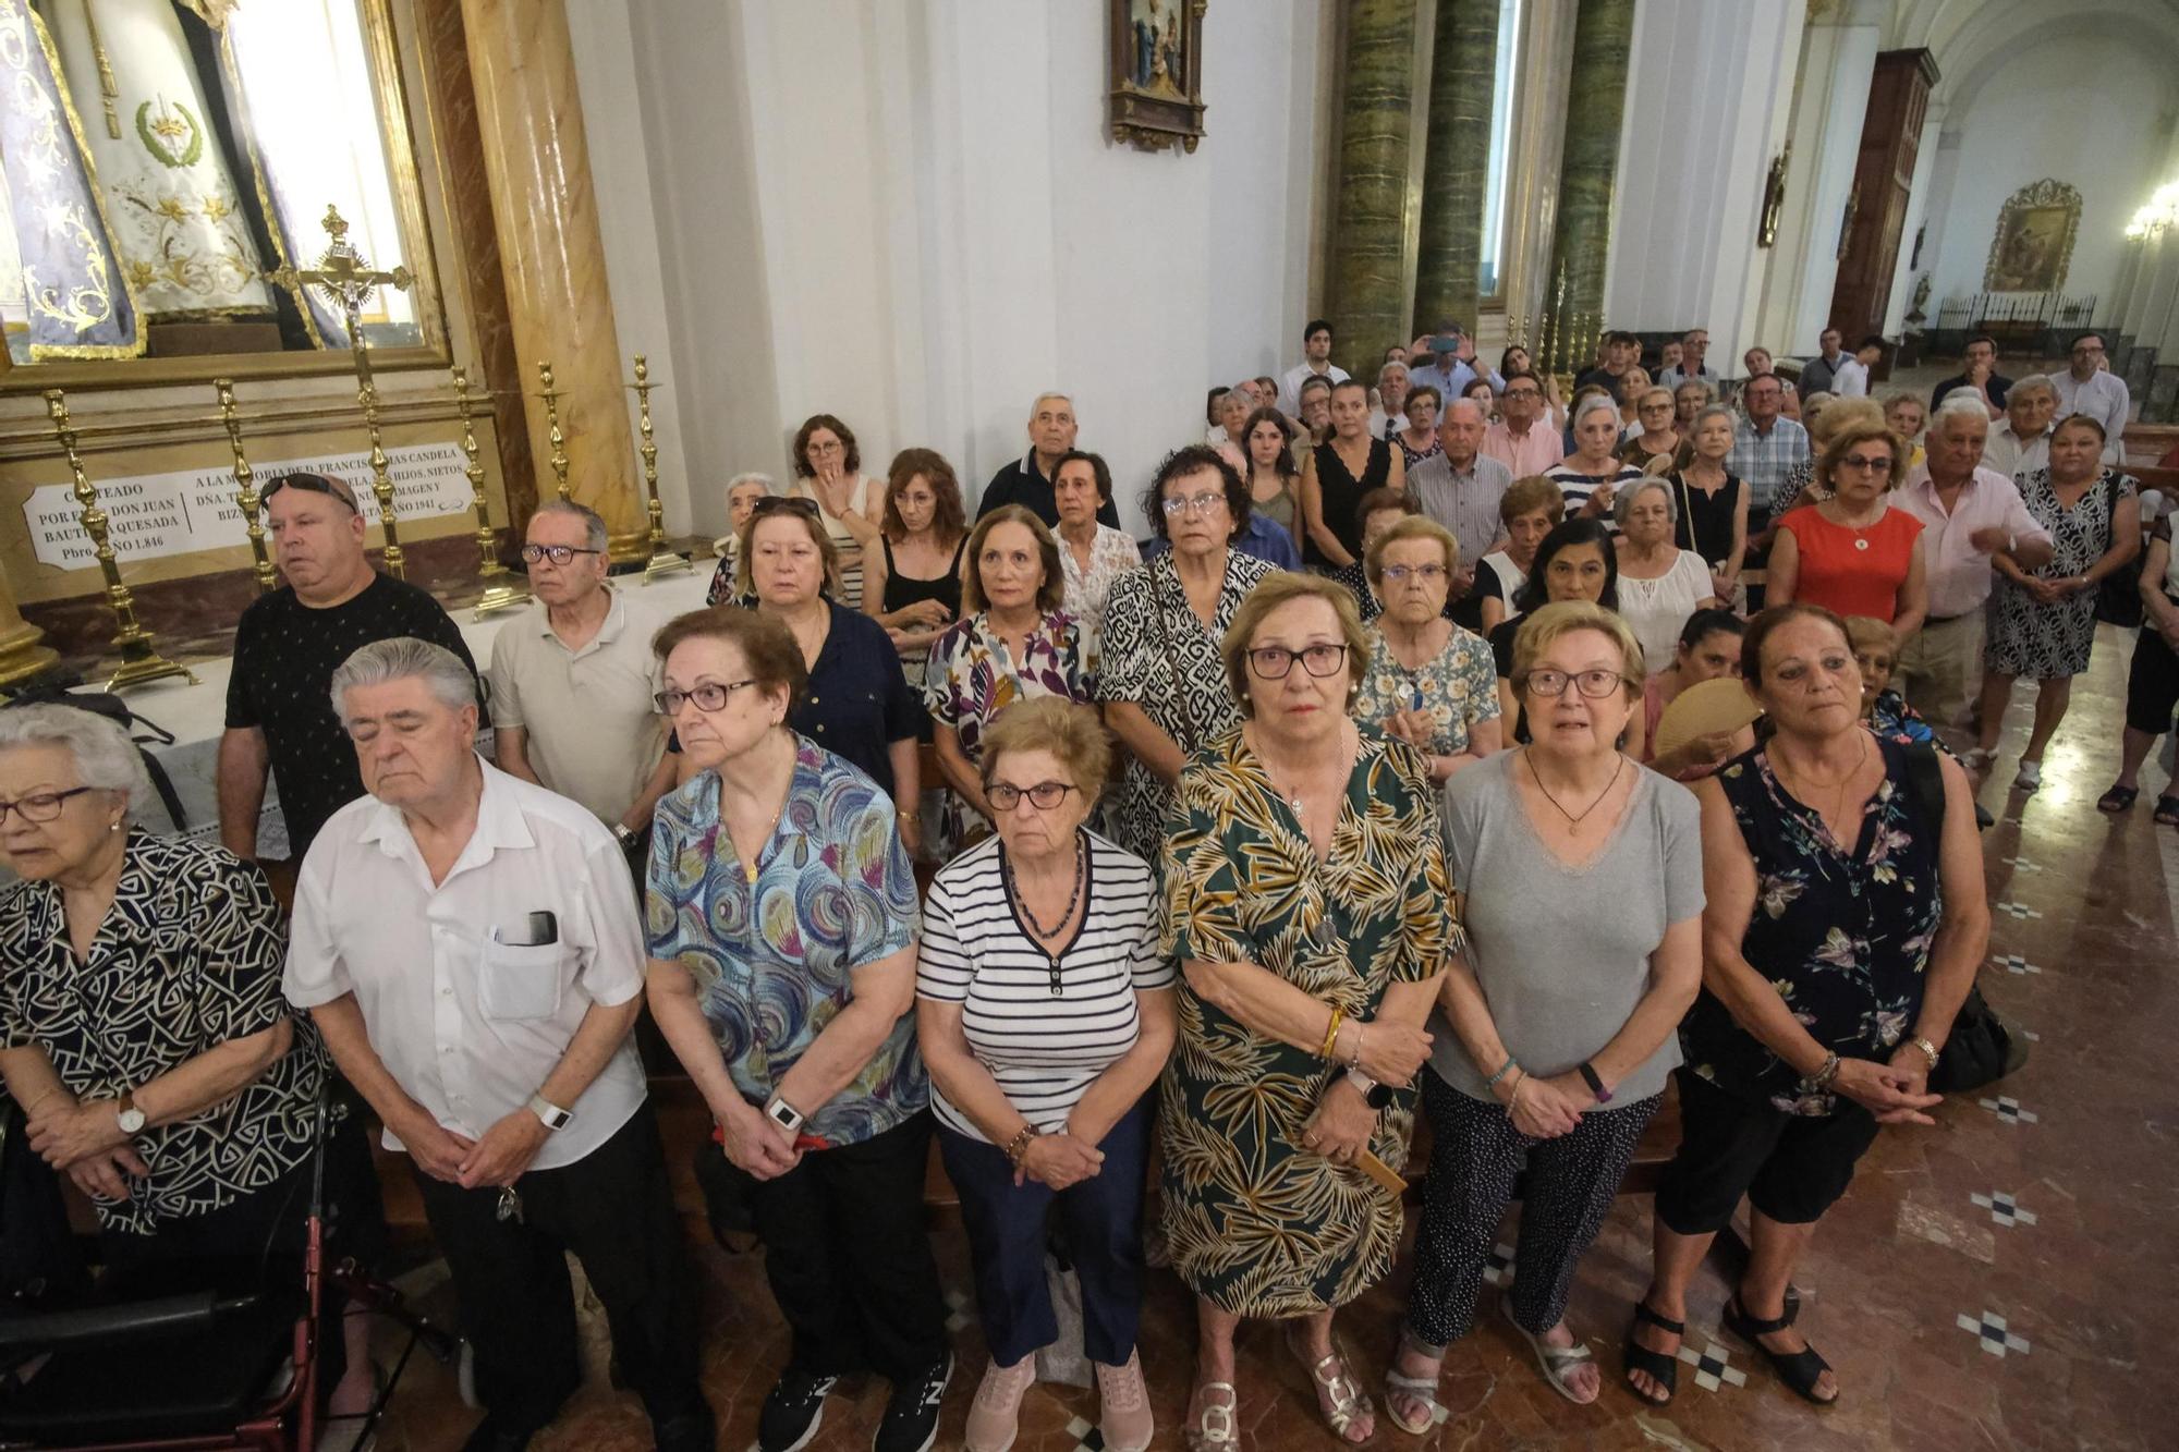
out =
[[[612,1356],[652,1421],[704,1404],[695,1291],[649,1103],[582,1160],[523,1175],[519,1223],[499,1219],[497,1188],[464,1190],[421,1169],[416,1186],[453,1271],[477,1397],[499,1421],[536,1430],[582,1380],[564,1251],[606,1304]]]

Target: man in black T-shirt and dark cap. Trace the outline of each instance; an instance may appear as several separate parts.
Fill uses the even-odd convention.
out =
[[[288,857],[301,861],[325,820],[364,794],[325,695],[333,669],[357,645],[401,634],[436,641],[464,663],[468,645],[429,593],[370,567],[364,517],[342,480],[283,473],[261,499],[288,582],[253,600],[235,626],[218,767],[220,844],[255,861],[270,772]]]

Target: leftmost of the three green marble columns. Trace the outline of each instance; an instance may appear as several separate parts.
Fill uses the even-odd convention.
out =
[[[1414,0],[1355,0],[1347,11],[1340,105],[1338,231],[1331,320],[1355,377],[1408,342],[1408,146],[1414,107]]]

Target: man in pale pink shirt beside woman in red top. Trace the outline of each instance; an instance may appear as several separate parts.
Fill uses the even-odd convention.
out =
[[[2048,530],[2035,523],[2007,475],[1983,467],[1987,434],[1981,397],[1952,399],[1928,425],[1928,458],[1891,497],[1891,508],[1922,521],[1928,569],[1928,619],[1902,643],[1896,680],[1907,704],[1937,728],[1961,726],[1968,702],[1981,693],[1989,560],[2003,554],[2022,571],[2050,562]],[[1963,761],[1976,772],[1987,765],[1979,752]]]

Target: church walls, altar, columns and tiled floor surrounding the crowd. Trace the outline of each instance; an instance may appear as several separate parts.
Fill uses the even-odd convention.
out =
[[[1654,1201],[1678,1140],[1667,1097],[1567,1291],[1567,1321],[1602,1374],[1591,1400],[1538,1374],[1545,1352],[1497,1315],[1521,1273],[1514,1206],[1482,1269],[1490,1312],[1445,1352],[1425,1430],[1388,1415],[1423,1166],[1442,1173],[1440,1132],[1438,1153],[1408,1162],[1390,1271],[1340,1308],[1338,1354],[1375,1400],[1373,1430],[1327,1426],[1314,1358],[1297,1360],[1268,1319],[1242,1319],[1227,1439],[1218,1419],[1203,1432],[1198,1295],[1148,1245],[1140,1374],[1157,1430],[1142,1445],[2172,1445],[2179,1378],[2159,1374],[2155,1347],[2179,1334],[2168,1249],[2179,1094],[2157,1088],[2153,1064],[2179,1027],[2159,968],[2179,957],[2179,763],[2172,704],[2148,728],[2138,702],[2140,652],[2172,658],[2159,610],[2179,621],[2179,569],[2162,595],[2140,573],[2140,558],[2170,560],[2166,515],[2179,501],[2179,0],[0,0],[0,691],[118,693],[139,741],[159,733],[148,754],[170,781],[168,804],[137,826],[205,848],[238,842],[224,776],[246,669],[238,630],[285,586],[264,491],[290,475],[349,491],[331,497],[362,521],[375,571],[434,597],[482,671],[501,656],[501,632],[547,619],[532,593],[534,530],[556,501],[601,521],[599,578],[662,624],[719,602],[721,556],[767,517],[769,504],[737,512],[737,484],[811,484],[813,425],[852,427],[848,471],[859,451],[880,491],[859,506],[872,521],[896,517],[887,462],[924,449],[957,475],[954,512],[974,523],[981,491],[1011,475],[1052,499],[1046,475],[1057,482],[1061,451],[1039,436],[1039,410],[1059,399],[1063,449],[1079,429],[1079,447],[1098,451],[1118,530],[1155,558],[1153,536],[1181,552],[1198,504],[1161,495],[1172,451],[1203,445],[1205,425],[1214,443],[1229,438],[1207,392],[1240,399],[1233,379],[1262,382],[1251,432],[1264,412],[1286,414],[1286,434],[1320,429],[1314,456],[1307,440],[1294,456],[1307,473],[1288,549],[1329,573],[1340,554],[1312,539],[1325,508],[1316,480],[1347,434],[1336,419],[1303,419],[1288,390],[1310,375],[1362,384],[1395,445],[1371,445],[1371,458],[1397,464],[1405,451],[1414,484],[1429,453],[1451,451],[1416,449],[1434,425],[1403,432],[1397,408],[1399,395],[1412,403],[1432,344],[1442,344],[1434,416],[1453,416],[1447,382],[1464,375],[1480,388],[1462,401],[1475,425],[1504,429],[1499,399],[1525,377],[1530,397],[1558,410],[1538,432],[1554,436],[1549,464],[1575,458],[1575,429],[1595,419],[1580,390],[1599,373],[1628,419],[1612,447],[1647,438],[1634,421],[1647,382],[1693,379],[1702,406],[1745,429],[1745,386],[1774,373],[1772,412],[1811,432],[1817,410],[1883,403],[1891,434],[1870,436],[1898,451],[1894,480],[1928,477],[1941,469],[1944,414],[1957,416],[1939,403],[1965,384],[1989,403],[1983,447],[2003,434],[2020,451],[2026,497],[2035,460],[2040,488],[2057,488],[2070,416],[2092,412],[2092,397],[2120,399],[2094,423],[2094,477],[2111,480],[2111,545],[2120,519],[2138,519],[2138,539],[2131,573],[2120,560],[2118,589],[2103,580],[2085,669],[2057,674],[2070,709],[2048,726],[2031,682],[1994,698],[1985,680],[1963,698],[1983,715],[1937,722],[1987,818],[1974,983],[2011,1031],[2013,1060],[1926,1121],[1887,1123],[1798,1262],[1789,1302],[1826,1350],[1837,1406],[1793,1395],[1776,1352],[1728,1328],[1758,1234],[1752,1208],[1693,1275],[1684,1336],[1667,1352],[1680,1363],[1676,1395],[1658,1404],[1623,1382],[1623,1328],[1652,1284]],[[2094,340],[2085,353],[2083,340]],[[1510,351],[1525,355],[1519,368]],[[1630,362],[1645,386],[1619,399]],[[2057,410],[2035,438],[2013,432],[2020,412],[2003,399],[2029,377]],[[1360,410],[1351,388],[1331,392]],[[1898,399],[1911,427],[1896,423]],[[1684,471],[1697,440],[1689,414],[1680,427]],[[1240,425],[1231,445],[1235,477],[1251,477]],[[1828,460],[1822,447],[1817,434],[1815,458]],[[1730,458],[1754,480],[1739,451]],[[900,464],[893,475],[904,493],[909,475]],[[1785,515],[1793,495],[1769,497]],[[821,508],[811,504],[813,521],[835,512]],[[1567,519],[1575,512],[1569,495]],[[1739,615],[1761,608],[1748,600],[1761,602],[1761,569],[1743,552],[1758,528],[1734,536],[1726,576],[1745,567],[1739,595],[1726,576],[1719,591],[1708,576],[1700,586]],[[839,541],[872,558],[878,536]],[[1460,543],[1473,580],[1484,547]],[[1800,549],[1806,602],[1815,554]],[[1364,569],[1360,545],[1353,554],[1349,569]],[[2003,593],[2016,567],[1996,554]],[[1375,545],[1368,560],[1375,569]],[[1968,608],[1981,615],[1989,569],[1974,569]],[[2070,569],[2096,593],[2101,567]],[[1772,582],[1782,580],[1774,545]],[[2120,608],[2107,615],[2114,593]],[[2140,593],[2155,595],[2146,617]],[[1486,621],[1504,617],[1504,600],[1486,604],[1499,606]],[[1935,584],[1924,604],[1924,637],[1963,615],[1939,606]],[[1447,615],[1460,619],[1453,604]],[[1687,608],[1671,632],[1684,619]],[[1996,600],[1987,628],[1996,641]],[[1118,617],[1105,632],[1116,650]],[[1902,634],[1898,648],[1904,667],[1913,645]],[[1299,650],[1294,665],[1316,671]],[[2046,671],[2013,674],[2053,691]],[[1499,691],[1506,678],[1501,663]],[[673,680],[656,685],[660,704],[680,700]],[[699,689],[715,687],[686,687],[702,704]],[[920,691],[935,700],[928,682]],[[477,739],[490,754],[506,730],[488,730],[486,715]],[[954,752],[967,739],[941,733]],[[680,741],[658,737],[652,765],[671,776]],[[0,730],[0,759],[9,741]],[[930,800],[961,778],[924,741]],[[1514,746],[1510,728],[1501,743]],[[0,772],[0,800],[9,781]],[[272,791],[259,787],[240,842],[285,907],[307,833],[290,835],[283,796],[275,752]],[[0,857],[13,852],[7,831]],[[917,861],[924,890],[941,861]],[[652,959],[658,911],[654,898]],[[28,1042],[4,1003],[0,1027],[11,1051]],[[1325,1057],[1338,1031],[1334,1016]],[[767,1288],[760,1236],[723,1225],[706,1197],[702,1162],[719,1147],[702,1088],[649,1020],[634,1042],[717,1421],[713,1441],[680,1445],[913,1445],[887,1443],[882,1376],[845,1378],[808,1441],[760,1430],[802,1328]],[[0,1138],[22,1138],[9,1149],[35,1166],[28,1112],[11,1110]],[[410,1319],[370,1319],[355,1345],[368,1343],[377,1395],[366,1411],[309,1419],[312,1443],[667,1445],[580,1258],[569,1262],[580,1389],[549,1426],[477,1441],[484,1400],[466,1352],[418,1341],[412,1319],[462,1334],[473,1308],[455,1297],[403,1151],[373,1147],[388,1232],[377,1269]],[[1155,1241],[1155,1158],[1148,1173],[1142,1236]],[[13,1171],[4,1184],[11,1193]],[[96,1249],[100,1221],[78,1188],[63,1186],[68,1219]],[[917,1210],[952,1356],[924,1445],[1005,1445],[972,1426],[978,1376],[998,1367],[978,1299],[981,1221],[937,1149]],[[1133,1445],[1100,1430],[1083,1293],[1066,1265],[1055,1232],[1050,1275],[1074,1302],[1052,1358],[1039,1354],[1044,1380],[1020,1393],[1011,1445]],[[13,1306],[35,1310],[37,1295],[22,1282],[0,1291],[7,1343]],[[9,1397],[35,1380],[17,1363],[0,1345],[0,1448],[83,1445],[11,1424]]]

